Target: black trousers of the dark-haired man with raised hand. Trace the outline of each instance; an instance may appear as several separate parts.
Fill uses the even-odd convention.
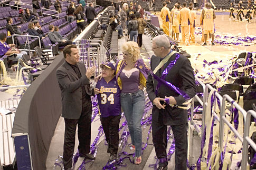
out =
[[[79,119],[64,118],[65,121],[65,135],[63,147],[63,164],[64,168],[72,167],[72,157],[74,153],[75,132],[78,125],[78,150],[80,154],[90,153],[91,144],[91,103],[82,109]]]

